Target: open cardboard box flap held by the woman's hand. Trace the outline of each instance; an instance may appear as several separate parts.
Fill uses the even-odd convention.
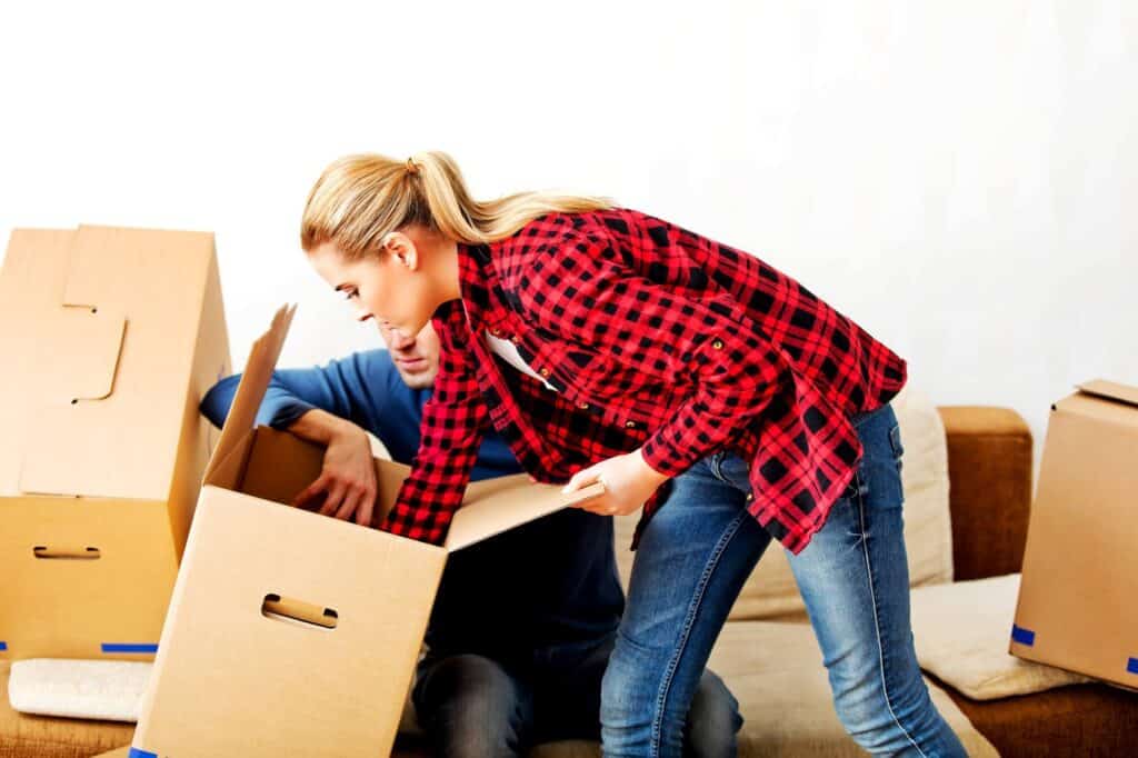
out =
[[[525,473],[471,481],[451,521],[445,546],[450,552],[462,550],[603,493],[604,486],[594,484],[566,495],[560,485],[535,485]]]

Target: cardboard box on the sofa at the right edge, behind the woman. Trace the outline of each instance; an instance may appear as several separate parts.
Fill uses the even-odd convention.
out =
[[[1052,406],[1009,652],[1138,687],[1138,388]]]

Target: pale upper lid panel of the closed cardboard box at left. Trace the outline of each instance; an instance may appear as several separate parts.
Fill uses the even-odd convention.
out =
[[[213,236],[14,230],[0,271],[0,493],[166,500]]]

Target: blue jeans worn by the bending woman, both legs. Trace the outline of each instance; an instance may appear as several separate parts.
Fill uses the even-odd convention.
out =
[[[810,544],[787,553],[834,707],[872,753],[964,756],[929,698],[913,648],[897,418],[885,405],[853,423],[865,450],[853,481]],[[770,543],[745,509],[748,468],[726,451],[698,462],[673,480],[641,536],[602,686],[605,756],[679,755],[682,715]]]

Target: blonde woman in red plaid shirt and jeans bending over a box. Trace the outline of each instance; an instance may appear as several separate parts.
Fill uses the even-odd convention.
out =
[[[479,201],[442,153],[332,163],[300,238],[360,318],[404,335],[430,321],[440,340],[382,528],[442,542],[490,427],[541,481],[603,483],[586,510],[643,505],[602,684],[605,755],[681,753],[708,656],[772,539],[853,739],[964,755],[913,650],[889,405],[902,359],[754,256],[603,198]]]

